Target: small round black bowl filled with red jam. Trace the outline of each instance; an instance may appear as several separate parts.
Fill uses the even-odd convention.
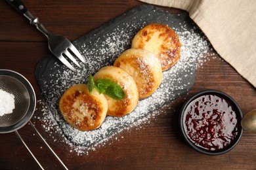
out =
[[[219,155],[240,141],[241,120],[242,112],[232,97],[217,90],[205,90],[184,103],[179,126],[192,148],[203,154]]]

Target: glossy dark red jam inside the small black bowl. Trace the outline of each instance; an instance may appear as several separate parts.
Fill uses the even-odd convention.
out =
[[[238,134],[236,113],[217,95],[194,99],[186,107],[183,124],[190,141],[205,150],[226,148]]]

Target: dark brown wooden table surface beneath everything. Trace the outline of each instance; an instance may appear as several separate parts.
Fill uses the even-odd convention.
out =
[[[135,0],[24,0],[24,4],[34,16],[39,16],[50,32],[65,35],[74,41],[143,3]],[[11,69],[26,76],[37,98],[41,99],[33,71],[39,59],[49,53],[47,39],[3,1],[0,1],[0,12],[0,69]],[[188,94],[161,109],[161,114],[152,118],[150,124],[144,124],[141,129],[123,131],[107,141],[105,146],[89,154],[77,156],[54,141],[37,121],[37,117],[42,114],[38,106],[32,120],[69,169],[255,169],[256,134],[244,132],[240,143],[221,156],[200,154],[182,139],[177,122],[179,109],[185,98],[205,89],[228,93],[237,101],[244,114],[256,109],[255,88],[218,55],[209,55],[203,67],[198,68],[196,82]],[[32,127],[27,124],[18,131],[45,169],[62,169]],[[39,169],[15,133],[0,134],[0,144],[0,169]]]

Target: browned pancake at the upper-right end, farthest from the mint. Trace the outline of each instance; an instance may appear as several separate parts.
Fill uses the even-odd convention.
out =
[[[162,71],[165,71],[179,60],[181,42],[175,31],[167,25],[149,24],[135,35],[131,48],[153,52],[160,59]]]

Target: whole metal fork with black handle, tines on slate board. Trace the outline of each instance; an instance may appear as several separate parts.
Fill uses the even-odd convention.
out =
[[[69,58],[71,61],[77,65],[77,67],[81,68],[81,65],[75,60],[74,56],[77,56],[84,64],[85,59],[81,56],[79,51],[75,48],[75,46],[68,41],[65,37],[61,35],[51,35],[47,29],[39,22],[38,18],[32,16],[30,11],[26,9],[23,3],[20,0],[5,0],[9,5],[14,7],[14,9],[18,10],[23,16],[30,20],[30,24],[35,25],[39,31],[41,31],[48,38],[48,46],[51,52],[56,56],[64,65],[66,65],[69,69],[74,71],[77,70],[70,64],[70,62],[66,59]]]

